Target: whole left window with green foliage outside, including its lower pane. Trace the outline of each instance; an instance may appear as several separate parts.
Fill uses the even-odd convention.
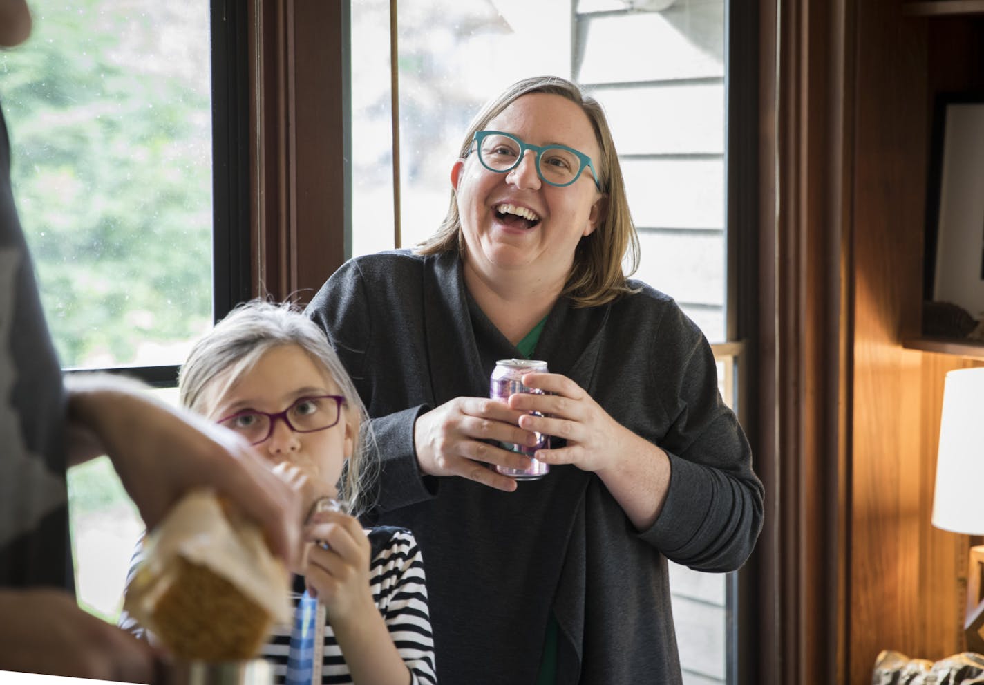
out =
[[[31,38],[0,53],[15,198],[63,367],[173,388],[191,343],[248,296],[230,228],[247,172],[233,5],[32,0]],[[70,471],[69,500],[80,601],[113,621],[143,524],[106,458]]]

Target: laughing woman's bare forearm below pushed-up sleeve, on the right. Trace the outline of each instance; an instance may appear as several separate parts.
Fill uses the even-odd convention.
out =
[[[666,453],[639,437],[625,431],[612,450],[610,465],[596,473],[619,503],[636,529],[652,526],[666,500],[670,482],[670,461]]]

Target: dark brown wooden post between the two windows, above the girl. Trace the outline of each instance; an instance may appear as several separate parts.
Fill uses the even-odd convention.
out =
[[[255,294],[304,303],[344,260],[342,3],[250,3]]]

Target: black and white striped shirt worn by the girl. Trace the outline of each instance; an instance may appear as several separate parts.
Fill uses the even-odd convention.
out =
[[[427,587],[424,580],[423,558],[413,534],[406,529],[379,527],[366,529],[372,545],[369,585],[376,608],[383,615],[397,651],[411,674],[412,685],[433,685],[437,682],[434,666],[434,638],[427,608]],[[134,553],[127,574],[127,584],[143,558],[142,545]],[[296,577],[290,593],[296,609],[304,592],[304,579]],[[321,612],[324,613],[324,612]],[[138,637],[144,629],[126,612],[119,625]],[[338,648],[331,623],[326,620],[324,631],[321,683],[336,685],[351,683],[352,677]],[[264,646],[261,656],[274,662],[275,682],[283,683],[287,670],[290,646],[290,626],[276,626]]]

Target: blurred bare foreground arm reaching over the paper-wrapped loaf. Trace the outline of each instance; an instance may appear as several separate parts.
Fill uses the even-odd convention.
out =
[[[278,556],[294,563],[298,497],[240,436],[158,402],[126,378],[72,374],[66,388],[70,463],[108,455],[148,529],[188,490],[214,487],[266,530]]]

